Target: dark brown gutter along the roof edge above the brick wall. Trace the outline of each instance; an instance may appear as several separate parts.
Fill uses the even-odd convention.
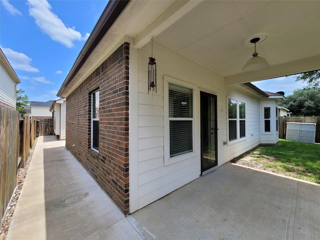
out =
[[[91,52],[100,42],[102,37],[106,34],[112,24],[115,22],[117,17],[123,11],[124,7],[127,5],[129,0],[109,0],[106,7],[104,8],[99,20],[95,24],[89,38],[85,42],[82,50],[77,56],[71,70],[63,81],[59,91],[57,92],[57,96],[60,96],[67,85],[72,81],[73,77],[77,74],[81,66],[84,64],[86,59],[89,57]]]

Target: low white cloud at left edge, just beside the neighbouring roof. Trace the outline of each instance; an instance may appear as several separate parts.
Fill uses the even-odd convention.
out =
[[[31,66],[32,59],[22,52],[14,51],[10,48],[1,47],[4,55],[10,62],[14,70],[38,72],[39,70]]]

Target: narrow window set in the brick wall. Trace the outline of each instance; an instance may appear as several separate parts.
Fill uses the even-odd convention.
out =
[[[99,91],[91,93],[91,148],[99,150]]]

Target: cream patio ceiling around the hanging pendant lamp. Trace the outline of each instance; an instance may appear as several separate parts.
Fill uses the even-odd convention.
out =
[[[224,76],[225,85],[320,68],[320,1],[190,1],[158,28],[148,35]],[[254,46],[242,41],[256,33],[267,34],[256,48],[270,67],[245,72]]]

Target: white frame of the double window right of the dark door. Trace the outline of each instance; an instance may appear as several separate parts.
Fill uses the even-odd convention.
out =
[[[236,118],[229,118],[229,104],[228,104],[228,100],[231,99],[231,100],[234,100],[236,101]],[[240,109],[239,109],[239,102],[241,103],[244,103],[245,104],[245,118],[240,118]],[[226,109],[227,109],[227,112],[226,112],[226,118],[227,118],[227,123],[226,123],[226,127],[227,127],[227,142],[228,144],[233,144],[233,143],[237,143],[239,141],[243,141],[243,140],[246,140],[247,138],[247,103],[237,97],[233,97],[233,96],[230,96],[230,95],[227,95],[226,96]],[[229,120],[234,120],[236,119],[236,139],[233,139],[233,140],[229,140]],[[240,137],[240,120],[244,120],[244,128],[245,128],[245,136],[243,137]]]

